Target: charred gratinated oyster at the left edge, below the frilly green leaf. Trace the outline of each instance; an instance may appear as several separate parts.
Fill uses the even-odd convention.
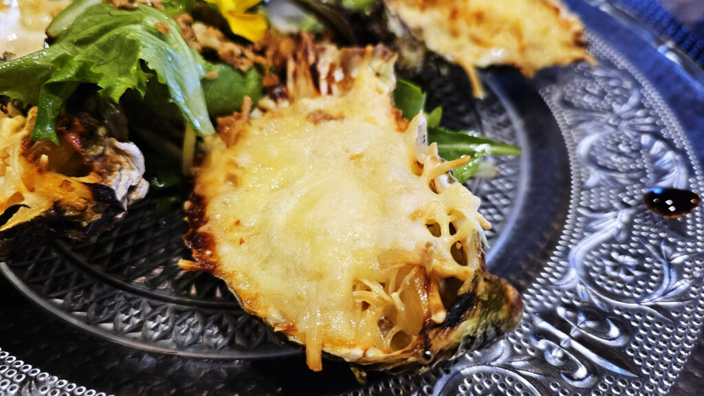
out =
[[[84,237],[111,225],[149,188],[144,157],[88,113],[65,116],[61,144],[30,140],[37,108],[0,109],[0,253],[51,233]],[[113,119],[115,121],[115,119]],[[110,128],[120,128],[119,122]],[[126,123],[122,125],[126,132]]]

